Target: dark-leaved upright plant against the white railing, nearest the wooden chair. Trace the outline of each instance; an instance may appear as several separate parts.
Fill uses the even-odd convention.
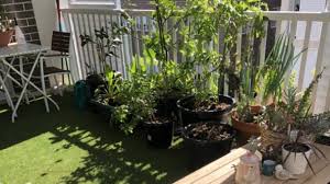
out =
[[[108,27],[101,27],[100,30],[95,30],[95,37],[88,34],[80,35],[81,47],[86,46],[86,44],[95,44],[98,53],[98,59],[100,61],[100,66],[102,67],[102,72],[106,71],[107,67],[107,58],[118,57],[116,55],[116,50],[122,44],[121,36],[130,33],[130,27],[134,23],[128,13],[121,12],[121,19],[127,21],[125,25],[119,25],[113,22]],[[97,69],[89,64],[85,64],[89,69],[89,74],[97,73]],[[111,66],[111,65],[110,65]]]

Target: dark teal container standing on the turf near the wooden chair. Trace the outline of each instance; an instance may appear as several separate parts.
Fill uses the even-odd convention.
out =
[[[75,93],[74,95],[75,95],[76,107],[78,107],[79,110],[85,110],[87,107],[89,96],[90,96],[89,88],[86,84],[85,80],[80,80],[75,83],[74,93]]]

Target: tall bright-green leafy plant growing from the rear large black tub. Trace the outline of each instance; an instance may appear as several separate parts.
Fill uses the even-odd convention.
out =
[[[251,32],[254,37],[264,35],[262,9],[266,9],[266,5],[258,0],[187,1],[185,12],[189,19],[180,31],[180,53],[187,62],[193,64],[190,71],[196,76],[194,92],[198,103],[222,92],[221,80],[226,74],[230,81],[239,82],[235,67],[232,67],[234,62],[231,61],[237,36],[240,27],[246,24],[255,27]],[[252,11],[254,15],[246,14],[246,11]],[[213,49],[217,47],[221,49]],[[241,61],[237,64],[243,65]],[[195,66],[199,67],[199,71],[196,71]]]

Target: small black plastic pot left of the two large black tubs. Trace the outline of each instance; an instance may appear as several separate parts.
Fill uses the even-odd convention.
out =
[[[150,145],[157,148],[168,148],[173,139],[173,120],[161,123],[145,122],[146,140]]]

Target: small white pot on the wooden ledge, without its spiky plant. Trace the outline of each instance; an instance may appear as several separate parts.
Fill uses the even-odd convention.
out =
[[[286,143],[282,146],[282,161],[284,162],[283,165],[292,174],[304,174],[306,171],[306,166],[308,164],[306,158],[309,159],[311,153],[311,148],[306,143],[298,143],[298,147],[301,148],[301,151],[296,151],[296,152],[292,151],[292,153],[289,154],[290,152],[289,147],[292,145],[293,143]]]

